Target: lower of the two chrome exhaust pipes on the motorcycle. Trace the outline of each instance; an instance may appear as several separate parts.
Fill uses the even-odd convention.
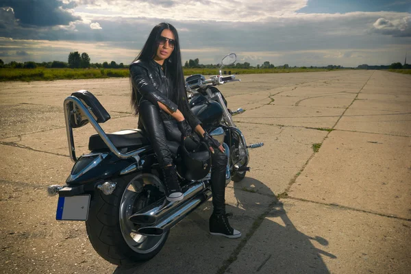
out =
[[[177,225],[179,221],[184,219],[190,212],[195,210],[201,203],[204,203],[211,197],[211,190],[206,190],[200,195],[197,195],[194,199],[186,201],[177,210],[171,213],[169,216],[164,216],[157,225],[151,227],[141,227],[138,229],[138,234],[145,236],[160,236],[167,230],[171,229],[174,225]]]

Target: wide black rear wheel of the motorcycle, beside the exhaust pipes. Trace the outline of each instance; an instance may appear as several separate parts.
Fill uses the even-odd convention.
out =
[[[136,264],[157,255],[169,231],[161,236],[138,234],[139,225],[130,222],[129,216],[162,197],[162,184],[151,174],[116,179],[116,189],[111,195],[97,190],[86,221],[88,238],[95,251],[117,265]]]

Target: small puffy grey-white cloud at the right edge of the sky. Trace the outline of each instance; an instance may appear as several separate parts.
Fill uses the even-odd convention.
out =
[[[373,23],[373,32],[395,37],[411,37],[411,16],[406,16],[392,21],[378,18]]]

